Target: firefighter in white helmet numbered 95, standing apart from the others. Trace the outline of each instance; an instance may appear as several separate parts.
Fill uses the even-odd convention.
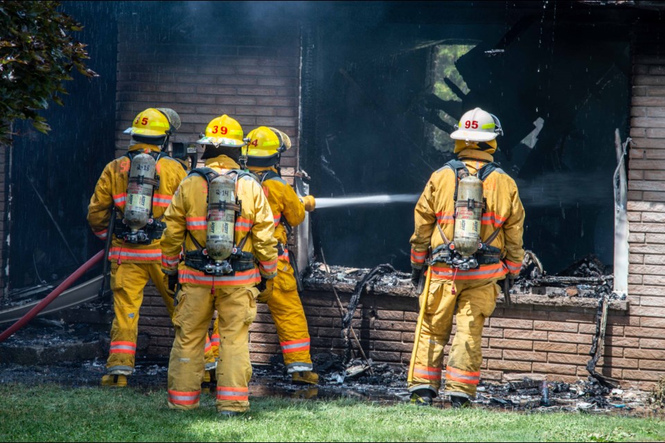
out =
[[[508,278],[512,286],[520,273],[524,208],[515,181],[493,163],[499,134],[503,132],[498,118],[480,108],[466,112],[450,134],[459,160],[432,174],[416,204],[412,280],[417,284],[423,275],[429,248],[432,279],[429,291],[419,300],[421,306],[426,305],[420,339],[414,344],[415,361],[411,361],[412,404],[432,404],[438,394],[443,348],[453,316],[456,333],[445,366],[443,394],[450,395],[454,407],[468,406],[475,399],[481,334],[485,319],[495,309],[500,291],[497,280]],[[477,183],[479,195],[462,201],[467,183]],[[472,248],[457,251],[456,246],[468,246],[465,235],[473,229]]]

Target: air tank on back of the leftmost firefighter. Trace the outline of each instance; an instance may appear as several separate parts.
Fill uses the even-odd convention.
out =
[[[125,224],[132,230],[143,228],[150,219],[152,190],[156,183],[155,165],[154,159],[149,154],[137,154],[132,159],[125,204]]]

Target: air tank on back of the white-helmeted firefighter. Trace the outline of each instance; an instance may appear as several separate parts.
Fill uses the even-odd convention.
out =
[[[459,181],[455,204],[455,251],[462,257],[470,257],[480,243],[480,226],[483,216],[483,182],[470,175]]]

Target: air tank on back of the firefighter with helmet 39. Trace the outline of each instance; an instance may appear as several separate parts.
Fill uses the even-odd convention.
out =
[[[224,209],[224,204],[236,204],[236,182],[220,175],[210,182],[208,190],[208,230],[206,249],[215,262],[226,260],[233,252],[236,211]]]

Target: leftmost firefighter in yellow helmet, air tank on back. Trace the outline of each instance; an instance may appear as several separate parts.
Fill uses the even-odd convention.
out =
[[[139,113],[125,130],[132,136],[127,154],[106,165],[90,199],[87,219],[93,232],[103,240],[113,235],[108,260],[115,316],[103,386],[126,386],[127,375],[134,372],[139,308],[148,280],[157,287],[169,316],[173,314],[169,287],[174,282],[160,269],[159,239],[164,211],[186,176],[181,165],[162,152],[179,126],[180,118],[172,109]],[[114,232],[109,233],[114,206]]]

